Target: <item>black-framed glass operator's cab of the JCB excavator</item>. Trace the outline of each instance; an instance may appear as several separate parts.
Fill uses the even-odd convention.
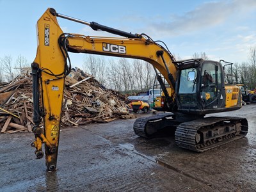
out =
[[[182,113],[205,115],[225,108],[223,67],[202,59],[175,61],[178,70],[177,105]]]

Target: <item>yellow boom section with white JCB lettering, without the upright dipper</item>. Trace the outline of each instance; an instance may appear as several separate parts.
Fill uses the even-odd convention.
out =
[[[83,36],[74,34],[74,36],[68,38],[68,47],[74,49],[76,52],[84,52],[91,54],[101,54],[107,56],[117,56],[122,58],[136,58],[145,60],[156,67],[161,74],[168,80],[167,70],[164,67],[164,63],[156,52],[162,50],[159,45],[150,43],[147,44],[145,38],[114,38],[114,37],[100,37],[100,36]],[[110,44],[116,47],[125,47],[125,54],[111,51],[104,51],[102,47]],[[170,55],[167,52],[163,54],[166,65],[170,72],[172,72],[174,79],[176,79],[175,72],[177,71],[175,65],[173,65]]]

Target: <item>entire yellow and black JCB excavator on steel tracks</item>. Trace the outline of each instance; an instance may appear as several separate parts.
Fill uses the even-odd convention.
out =
[[[57,17],[120,37],[63,33]],[[145,33],[132,34],[97,22],[85,22],[57,13],[53,8],[48,8],[38,20],[37,37],[36,58],[31,64],[35,123],[35,141],[31,145],[36,148],[36,157],[42,158],[42,143],[45,143],[47,170],[56,169],[64,81],[71,69],[68,52],[145,60],[153,65],[156,74],[159,71],[164,76],[172,88],[170,94],[160,76],[158,81],[166,108],[172,113],[138,118],[133,128],[139,136],[150,138],[157,131],[171,127],[176,129],[175,141],[179,147],[204,152],[242,138],[248,131],[245,118],[204,117],[208,113],[241,108],[239,88],[224,84],[223,67],[217,61],[175,61],[163,42],[154,41]],[[40,127],[42,119],[44,127]]]

